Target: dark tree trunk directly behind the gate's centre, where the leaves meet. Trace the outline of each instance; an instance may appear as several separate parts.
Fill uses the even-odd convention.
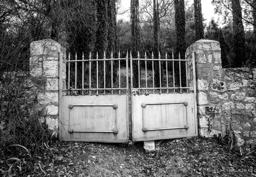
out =
[[[132,56],[137,58],[140,48],[140,19],[139,0],[131,0],[131,33],[132,33]],[[138,87],[138,64],[133,64],[133,87]]]

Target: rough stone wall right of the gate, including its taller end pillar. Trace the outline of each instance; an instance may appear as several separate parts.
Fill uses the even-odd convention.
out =
[[[238,146],[255,144],[256,69],[223,69],[218,41],[201,39],[186,52],[188,59],[195,52],[199,134],[235,135]]]

